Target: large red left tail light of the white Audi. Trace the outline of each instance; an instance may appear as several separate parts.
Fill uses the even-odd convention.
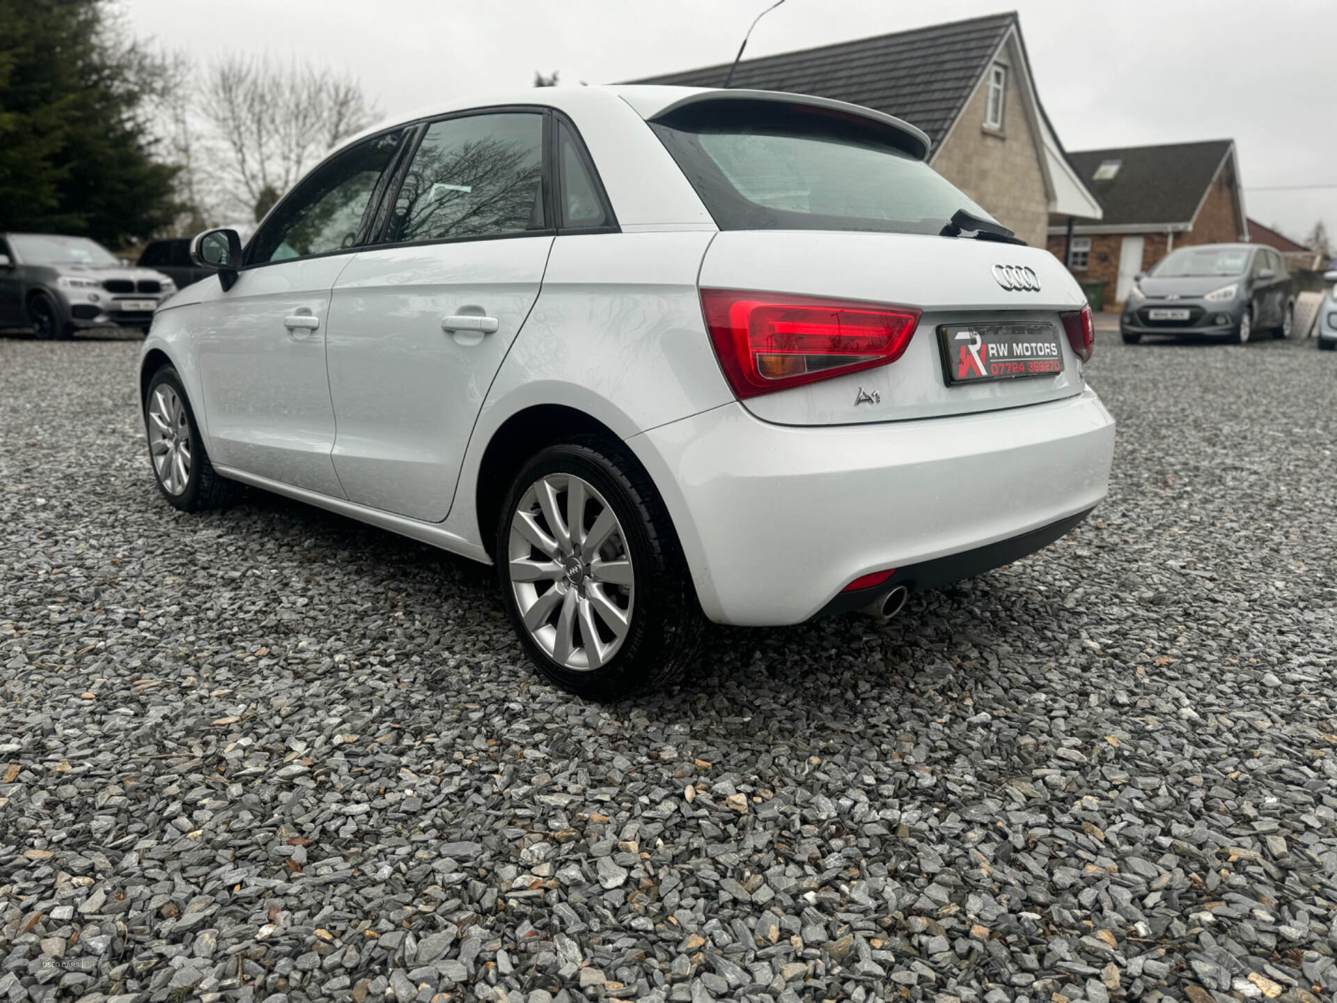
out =
[[[920,320],[910,306],[725,289],[702,289],[701,304],[739,397],[894,362]]]

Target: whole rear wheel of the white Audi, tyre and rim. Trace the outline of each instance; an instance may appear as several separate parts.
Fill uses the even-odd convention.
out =
[[[598,439],[548,447],[516,475],[496,530],[511,623],[539,673],[612,701],[678,679],[705,617],[654,484]]]

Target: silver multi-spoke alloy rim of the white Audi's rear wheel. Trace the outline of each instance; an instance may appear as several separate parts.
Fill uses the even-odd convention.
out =
[[[592,484],[545,473],[511,518],[508,578],[529,637],[570,671],[606,665],[631,630],[635,574],[622,523]]]

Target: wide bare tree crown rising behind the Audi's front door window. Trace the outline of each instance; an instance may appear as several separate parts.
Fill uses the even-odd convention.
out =
[[[230,209],[250,215],[380,112],[346,74],[230,56],[206,74],[199,114],[222,152],[217,182]]]

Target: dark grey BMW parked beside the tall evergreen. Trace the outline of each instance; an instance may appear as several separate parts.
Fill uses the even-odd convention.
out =
[[[0,233],[0,328],[68,338],[80,328],[147,332],[176,292],[167,275],[122,263],[87,237]]]

